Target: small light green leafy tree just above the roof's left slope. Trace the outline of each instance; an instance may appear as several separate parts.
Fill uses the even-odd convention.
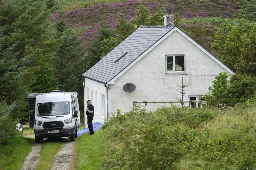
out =
[[[110,37],[109,39],[104,39],[101,41],[101,58],[107,55],[111,50],[113,50],[119,43],[116,41],[114,37]]]

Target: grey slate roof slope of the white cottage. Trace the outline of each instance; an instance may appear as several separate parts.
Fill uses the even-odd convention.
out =
[[[173,27],[174,25],[168,25],[168,27],[163,25],[141,25],[82,76],[101,83],[109,82]],[[128,53],[114,62],[125,52]]]

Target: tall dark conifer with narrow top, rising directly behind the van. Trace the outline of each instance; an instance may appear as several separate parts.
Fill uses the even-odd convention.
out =
[[[55,29],[57,53],[53,65],[59,87],[65,91],[78,90],[82,84],[80,75],[84,73],[81,41],[75,30],[66,26],[63,18],[56,21]]]

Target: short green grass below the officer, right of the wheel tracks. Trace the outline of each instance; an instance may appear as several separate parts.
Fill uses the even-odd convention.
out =
[[[75,153],[77,154],[77,170],[95,170],[101,164],[104,156],[103,129],[94,135],[84,133],[76,139]]]

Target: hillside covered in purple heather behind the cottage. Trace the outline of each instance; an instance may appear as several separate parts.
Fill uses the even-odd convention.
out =
[[[192,18],[231,18],[235,12],[237,12],[240,7],[234,5],[228,0],[222,1],[175,1],[175,0],[165,0],[165,1],[138,1],[129,0],[115,3],[104,3],[113,1],[100,1],[102,3],[94,4],[92,1],[85,1],[87,3],[82,3],[77,0],[77,3],[65,4],[62,1],[59,2],[61,8],[67,11],[63,13],[65,19],[70,26],[80,29],[79,38],[82,39],[83,44],[86,45],[90,40],[94,38],[97,34],[97,28],[99,27],[99,22],[101,20],[106,23],[111,24],[115,27],[118,20],[118,14],[123,13],[127,20],[131,18],[136,18],[135,11],[138,9],[140,4],[143,4],[150,10],[150,13],[154,13],[159,4],[163,5],[163,9],[173,9],[175,6],[175,12],[185,20],[190,20]],[[74,5],[76,4],[76,5]],[[66,7],[69,6],[67,9]],[[70,8],[74,8],[71,9]],[[52,16],[54,19],[58,18],[58,14],[54,13]],[[216,25],[211,24],[182,24],[181,28],[186,32],[191,32],[191,37],[193,37],[198,43],[203,45],[205,48],[211,51],[210,45],[213,42],[213,35],[217,31]]]

